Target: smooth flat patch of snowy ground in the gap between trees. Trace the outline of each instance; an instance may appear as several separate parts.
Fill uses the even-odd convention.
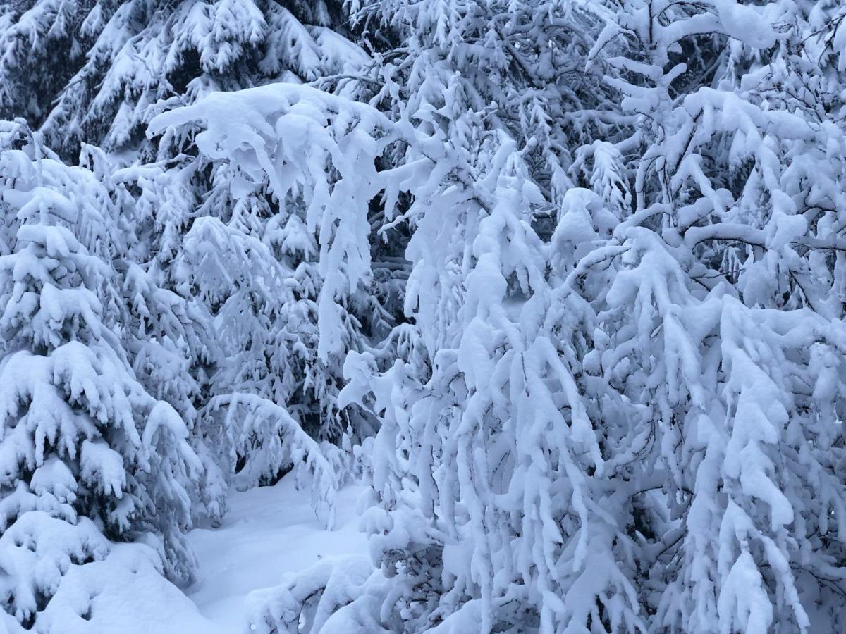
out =
[[[233,491],[221,527],[189,533],[200,570],[186,592],[204,617],[195,619],[198,628],[205,628],[197,629],[198,634],[240,634],[244,598],[251,591],[275,586],[286,572],[303,570],[323,556],[365,552],[355,513],[363,490],[349,486],[338,492],[332,531],[321,527],[309,491],[295,489],[293,478],[272,487]],[[185,631],[182,624],[173,630]]]

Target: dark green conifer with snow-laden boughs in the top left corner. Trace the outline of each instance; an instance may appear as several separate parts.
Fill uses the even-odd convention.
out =
[[[25,116],[74,156],[135,150],[156,112],[214,90],[343,73],[360,56],[339,3],[10,3],[0,21],[0,114]]]

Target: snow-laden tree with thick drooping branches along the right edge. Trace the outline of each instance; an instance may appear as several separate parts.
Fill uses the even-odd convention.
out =
[[[838,586],[821,567],[843,546],[822,536],[846,495],[841,230],[826,216],[843,128],[797,90],[824,91],[803,41],[825,36],[791,3],[642,4],[596,49],[630,39],[611,81],[641,122],[634,216],[615,231],[630,249],[607,297],[627,352],[609,350],[606,372],[651,407],[651,453],[678,506],[656,533],[668,585],[655,623],[810,631],[817,597]]]

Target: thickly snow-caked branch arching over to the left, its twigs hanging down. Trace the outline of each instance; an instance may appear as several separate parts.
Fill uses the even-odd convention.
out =
[[[343,345],[342,316],[335,299],[371,276],[367,205],[384,180],[372,159],[376,146],[391,140],[374,138],[383,121],[376,112],[352,104],[349,114],[344,113],[347,117],[324,129],[326,113],[336,103],[348,105],[311,88],[271,85],[211,96],[195,107],[160,115],[150,128],[156,134],[168,126],[199,120],[208,129],[197,136],[198,148],[206,156],[225,158],[237,166],[234,187],[249,187],[268,178],[278,199],[303,194],[306,227],[317,229],[321,249],[317,354],[324,360]],[[229,112],[235,109],[244,112],[244,122],[255,123],[233,121]],[[335,182],[326,172],[331,159],[337,161],[341,173]]]

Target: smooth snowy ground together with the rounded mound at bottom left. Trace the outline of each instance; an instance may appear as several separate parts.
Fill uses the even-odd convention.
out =
[[[297,490],[293,477],[272,487],[232,491],[220,527],[189,533],[199,570],[184,592],[164,580],[138,547],[117,544],[106,560],[74,566],[71,574],[87,577],[66,584],[62,595],[63,604],[73,603],[78,588],[96,588],[90,620],[53,625],[67,634],[241,634],[248,627],[244,599],[253,590],[277,586],[285,573],[323,556],[365,552],[355,512],[364,489],[354,485],[339,491],[332,531],[322,528],[308,488]],[[127,568],[133,571],[129,582]]]

